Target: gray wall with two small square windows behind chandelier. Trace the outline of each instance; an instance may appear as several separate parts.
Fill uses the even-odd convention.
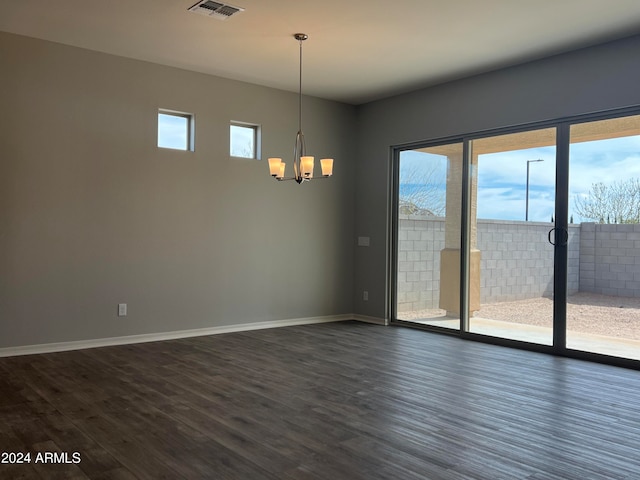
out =
[[[295,93],[5,33],[0,58],[0,347],[353,311],[355,107],[305,99],[335,176],[278,183],[229,121],[286,158]],[[156,147],[158,108],[195,152]]]

